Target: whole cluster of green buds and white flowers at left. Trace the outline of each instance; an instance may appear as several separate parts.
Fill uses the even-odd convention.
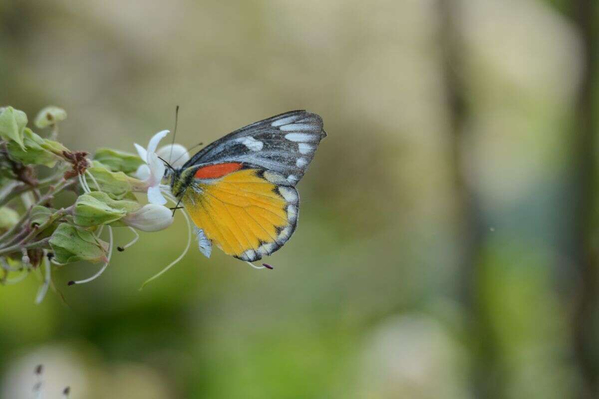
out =
[[[157,153],[177,157],[176,165],[189,159],[178,144],[156,149],[168,131],[158,133],[146,149],[137,146],[138,154],[99,148],[89,157],[71,151],[58,141],[58,126],[66,117],[57,106],[42,109],[34,129],[45,129],[44,135],[28,127],[25,112],[0,107],[0,284],[14,284],[45,266],[47,278],[36,301],[47,291],[52,267],[104,263],[99,275],[110,261],[113,228],[135,233],[133,242],[119,246],[123,250],[137,241],[136,230],[169,227],[173,213],[164,196],[171,197],[162,185],[166,173]],[[77,197],[59,208],[55,197],[63,190]],[[146,193],[150,203],[140,203],[135,193]]]

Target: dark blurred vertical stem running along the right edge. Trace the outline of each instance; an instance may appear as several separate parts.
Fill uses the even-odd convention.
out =
[[[597,154],[598,143],[596,109],[599,105],[597,83],[599,83],[599,31],[595,17],[599,11],[594,0],[571,2],[573,23],[580,37],[582,76],[578,86],[576,124],[573,138],[573,160],[576,169],[571,181],[573,190],[571,206],[574,211],[572,237],[572,263],[577,267],[573,288],[575,293],[572,331],[574,355],[577,361],[583,391],[580,398],[597,398],[599,395],[599,349],[597,348],[597,306],[599,304],[599,246],[597,245]]]

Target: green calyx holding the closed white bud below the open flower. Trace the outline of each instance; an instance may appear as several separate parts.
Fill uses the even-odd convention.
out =
[[[75,202],[74,223],[78,226],[98,226],[113,223],[128,212],[135,212],[141,205],[128,200],[113,200],[106,193],[93,191],[83,194]]]

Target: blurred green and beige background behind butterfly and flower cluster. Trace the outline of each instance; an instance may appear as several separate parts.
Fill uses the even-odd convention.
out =
[[[253,270],[177,218],[0,287],[0,396],[599,397],[594,0],[0,2],[0,104],[73,150],[191,147],[291,109],[328,138]],[[130,232],[119,230],[117,243]],[[65,304],[66,303],[66,304]]]

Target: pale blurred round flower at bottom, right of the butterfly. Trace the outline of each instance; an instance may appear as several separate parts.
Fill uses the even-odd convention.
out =
[[[465,359],[464,349],[436,319],[420,314],[388,319],[365,345],[358,397],[467,399]]]

